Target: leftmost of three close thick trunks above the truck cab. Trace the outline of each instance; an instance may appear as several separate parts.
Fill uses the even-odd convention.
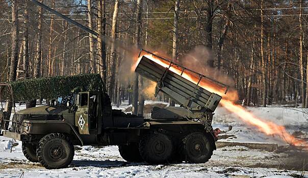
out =
[[[92,21],[92,6],[91,0],[88,0],[88,19],[89,19],[89,28],[93,28]],[[96,73],[96,65],[95,65],[95,55],[94,55],[94,40],[92,34],[89,34],[89,43],[90,43],[90,72]]]

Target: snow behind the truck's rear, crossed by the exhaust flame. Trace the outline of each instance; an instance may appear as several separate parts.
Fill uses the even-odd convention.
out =
[[[253,115],[258,116],[264,121],[270,121],[280,126],[285,126],[291,134],[299,131],[298,128],[307,127],[307,116],[303,114],[301,108],[288,107],[246,107]],[[258,129],[247,126],[244,122],[234,114],[228,112],[223,107],[218,107],[213,116],[213,128],[220,130],[228,130],[228,126],[233,126],[233,129],[222,135],[235,135],[223,141],[237,142],[266,142],[277,143],[278,145],[287,144],[284,140],[277,136],[265,135]],[[307,133],[302,131],[302,137]]]

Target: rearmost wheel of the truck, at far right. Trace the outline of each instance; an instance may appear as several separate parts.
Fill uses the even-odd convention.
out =
[[[191,163],[205,163],[213,155],[214,147],[211,139],[202,132],[193,132],[185,137],[184,154],[186,161]]]

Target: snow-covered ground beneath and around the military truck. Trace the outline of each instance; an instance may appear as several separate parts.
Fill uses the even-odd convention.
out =
[[[157,102],[145,102],[155,103]],[[130,106],[127,103],[123,103],[117,109],[128,107]],[[23,105],[17,106],[16,109],[22,108]],[[300,112],[282,107],[250,107],[248,110],[265,120],[285,125],[290,132],[305,121]],[[277,137],[265,135],[246,126],[223,108],[217,108],[215,113],[214,128],[227,130],[228,126],[233,126],[231,131],[225,133],[234,135],[225,139],[227,141],[286,144]],[[11,147],[12,143],[15,141],[0,136],[0,177],[300,177],[303,172],[290,170],[290,166],[300,164],[296,160],[306,156],[302,152],[268,152],[251,150],[245,146],[227,146],[217,149],[212,159],[205,164],[146,165],[125,162],[120,157],[117,146],[78,146],[69,168],[47,170],[40,164],[25,159],[19,141],[14,147]],[[308,174],[304,175],[308,177]]]

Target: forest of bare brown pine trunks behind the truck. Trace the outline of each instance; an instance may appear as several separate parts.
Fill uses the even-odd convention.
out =
[[[243,105],[308,107],[305,1],[43,3],[102,36],[157,52],[231,85]],[[136,114],[139,103],[142,113],[149,98],[142,88],[150,83],[121,70],[131,63],[127,50],[96,39],[29,1],[0,4],[2,82],[99,73],[114,103],[130,100]]]

